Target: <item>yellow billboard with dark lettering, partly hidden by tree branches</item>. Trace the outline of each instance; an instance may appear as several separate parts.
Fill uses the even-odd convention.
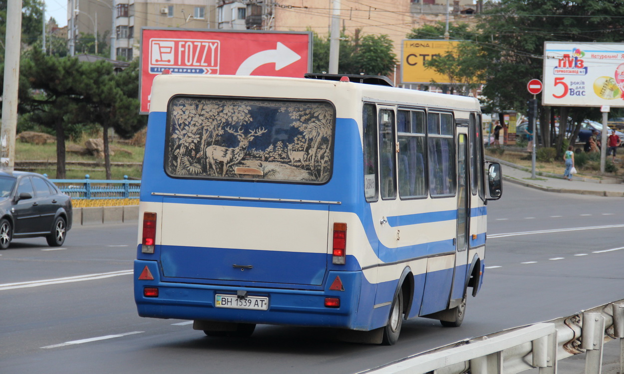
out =
[[[459,42],[440,40],[406,39],[403,41],[401,56],[402,83],[437,83],[448,84],[449,77],[439,74],[436,70],[426,68],[425,62],[445,55],[454,49]]]

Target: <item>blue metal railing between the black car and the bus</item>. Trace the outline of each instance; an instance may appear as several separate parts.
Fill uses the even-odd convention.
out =
[[[84,180],[50,180],[63,193],[72,199],[138,199],[141,181],[128,180],[92,180],[89,175]]]

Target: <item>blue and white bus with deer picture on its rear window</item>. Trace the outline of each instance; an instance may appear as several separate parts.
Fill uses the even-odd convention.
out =
[[[500,166],[484,170],[475,98],[390,86],[159,75],[139,315],[193,320],[209,336],[296,325],[389,345],[403,319],[459,326],[482,284]]]

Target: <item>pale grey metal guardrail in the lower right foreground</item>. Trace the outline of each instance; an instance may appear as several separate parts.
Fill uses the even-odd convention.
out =
[[[569,317],[512,328],[436,348],[359,374],[512,374],[539,368],[557,374],[557,360],[585,355],[585,373],[602,371],[603,344],[620,340],[624,368],[624,300]]]

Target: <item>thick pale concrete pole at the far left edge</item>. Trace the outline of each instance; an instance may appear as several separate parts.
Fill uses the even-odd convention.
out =
[[[0,168],[4,171],[13,171],[17,129],[19,49],[22,38],[22,0],[12,0],[7,3],[2,126],[0,127]]]

